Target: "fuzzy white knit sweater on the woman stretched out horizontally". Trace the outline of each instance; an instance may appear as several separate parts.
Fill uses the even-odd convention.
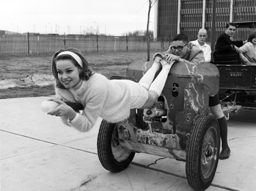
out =
[[[108,80],[104,75],[95,73],[76,91],[56,88],[57,97],[63,101],[81,103],[85,107],[83,114],[76,114],[72,122],[66,116],[61,120],[79,131],[89,131],[99,116],[109,122],[128,118],[131,89],[122,81]]]

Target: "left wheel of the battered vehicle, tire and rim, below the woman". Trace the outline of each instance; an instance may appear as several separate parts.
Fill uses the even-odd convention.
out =
[[[97,150],[102,166],[113,173],[126,169],[135,154],[120,146],[117,124],[112,124],[105,120],[102,120],[100,124]]]

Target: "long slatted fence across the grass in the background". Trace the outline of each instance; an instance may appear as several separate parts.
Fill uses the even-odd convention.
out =
[[[150,41],[150,50],[167,50],[169,41]],[[146,51],[147,41],[139,36],[105,35],[25,35],[12,34],[0,36],[0,56],[20,56],[36,54],[54,54],[66,48],[78,48],[81,52],[124,52]]]

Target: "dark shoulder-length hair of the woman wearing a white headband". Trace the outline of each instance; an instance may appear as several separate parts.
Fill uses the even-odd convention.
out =
[[[76,60],[70,56],[69,54],[61,54],[58,56],[59,53],[63,52],[63,51],[70,51],[73,52],[74,54],[76,54],[77,56],[79,56],[83,62],[83,68],[79,65],[79,63],[76,62]],[[79,73],[79,77],[82,80],[89,80],[89,77],[91,77],[92,75],[92,70],[91,67],[89,67],[87,60],[85,59],[85,56],[83,56],[82,52],[76,48],[67,48],[66,50],[59,50],[58,52],[55,52],[55,54],[53,54],[53,58],[52,58],[52,71],[53,71],[53,76],[55,77],[56,80],[56,87],[57,88],[63,88],[66,89],[61,82],[59,81],[58,78],[58,73],[57,73],[57,68],[56,68],[56,62],[58,60],[71,60],[72,63],[76,66],[79,67],[80,73]]]

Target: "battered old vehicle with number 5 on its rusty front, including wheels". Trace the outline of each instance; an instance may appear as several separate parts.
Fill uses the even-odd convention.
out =
[[[139,82],[151,65],[151,61],[135,60],[124,78]],[[102,166],[122,171],[140,152],[174,158],[186,162],[192,188],[208,188],[220,151],[218,121],[209,109],[209,97],[218,93],[218,82],[218,68],[212,63],[197,67],[175,63],[152,108],[131,109],[130,118],[122,122],[102,120],[97,141]]]

